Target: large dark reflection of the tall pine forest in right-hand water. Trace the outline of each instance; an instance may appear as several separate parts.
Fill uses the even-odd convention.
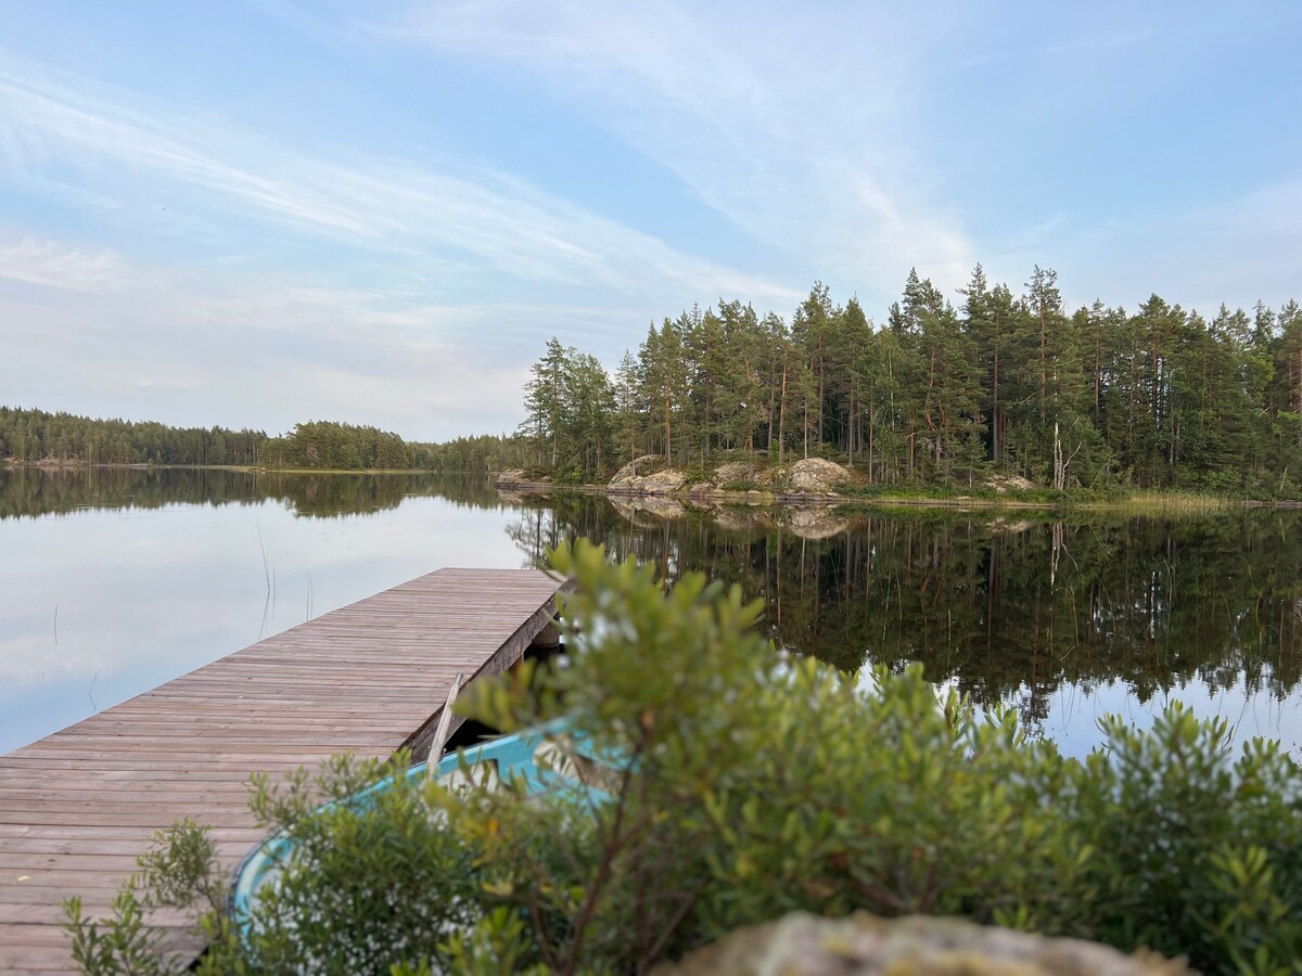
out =
[[[603,498],[568,496],[527,504],[509,531],[535,558],[582,535],[671,579],[736,580],[764,600],[784,647],[841,668],[922,661],[934,681],[1016,703],[1031,724],[1065,685],[1122,681],[1143,703],[1191,681],[1282,698],[1299,679],[1299,513],[859,514],[831,537],[798,518],[727,513],[721,526],[686,511],[634,527]]]

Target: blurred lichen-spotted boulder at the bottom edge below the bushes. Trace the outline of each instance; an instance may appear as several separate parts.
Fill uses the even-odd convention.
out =
[[[793,914],[738,929],[652,976],[1193,976],[1184,962],[961,919]]]

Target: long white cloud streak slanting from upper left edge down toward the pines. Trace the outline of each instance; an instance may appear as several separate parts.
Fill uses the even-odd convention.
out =
[[[677,251],[654,237],[491,170],[439,172],[398,159],[323,161],[234,126],[176,117],[164,104],[0,57],[0,167],[47,161],[117,167],[124,193],[139,177],[197,191],[193,206],[245,216],[366,252],[440,258],[517,280],[579,289],[733,289],[789,297],[786,289]],[[457,275],[464,282],[464,276]]]

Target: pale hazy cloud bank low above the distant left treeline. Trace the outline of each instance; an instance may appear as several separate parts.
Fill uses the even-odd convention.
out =
[[[10,254],[21,276],[7,273],[20,265]],[[516,427],[540,337],[592,347],[644,325],[617,307],[440,303],[116,255],[103,256],[108,284],[90,288],[102,259],[77,254],[0,243],[4,402],[271,432],[346,419],[443,440]],[[109,286],[118,280],[130,288]]]

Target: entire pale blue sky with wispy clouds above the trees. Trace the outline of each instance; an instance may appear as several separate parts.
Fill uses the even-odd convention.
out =
[[[0,402],[413,439],[909,268],[1302,298],[1302,4],[0,0]]]

